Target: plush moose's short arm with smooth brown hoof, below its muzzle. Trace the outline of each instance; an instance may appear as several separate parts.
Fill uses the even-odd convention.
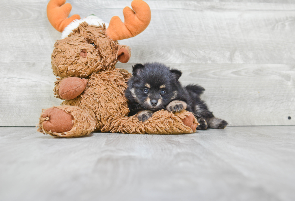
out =
[[[53,91],[57,98],[70,100],[79,96],[85,90],[86,85],[85,78],[67,77],[62,80],[58,79]]]

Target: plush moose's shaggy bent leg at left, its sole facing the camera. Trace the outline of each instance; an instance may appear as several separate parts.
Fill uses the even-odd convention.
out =
[[[42,111],[39,132],[59,137],[80,137],[95,129],[93,118],[78,106],[61,105]]]

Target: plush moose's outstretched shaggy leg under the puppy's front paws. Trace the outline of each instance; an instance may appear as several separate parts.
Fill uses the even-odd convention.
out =
[[[172,113],[166,110],[156,111],[147,121],[138,121],[136,116],[123,117],[112,122],[111,132],[139,134],[182,134],[196,130],[197,119],[191,112],[183,110]]]

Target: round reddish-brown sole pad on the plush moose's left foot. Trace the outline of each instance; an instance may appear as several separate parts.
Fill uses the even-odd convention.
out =
[[[47,118],[43,123],[43,128],[47,131],[55,133],[64,133],[72,129],[74,125],[74,118],[71,114],[58,109],[49,108],[44,111],[43,118]]]

